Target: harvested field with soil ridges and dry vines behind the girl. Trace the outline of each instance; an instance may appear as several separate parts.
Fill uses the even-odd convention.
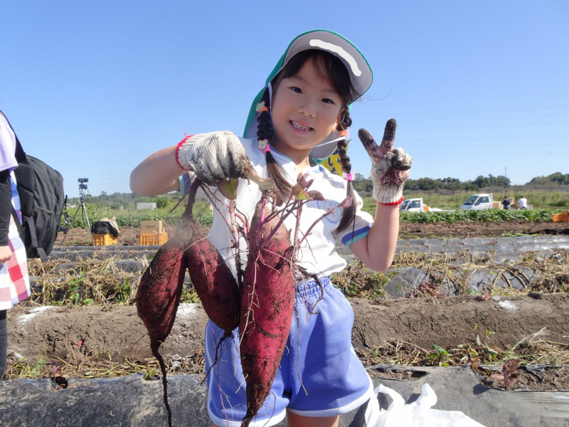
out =
[[[433,387],[439,384],[437,396],[443,401],[456,401],[459,394],[462,401],[448,409],[464,411],[486,426],[496,418],[480,409],[501,399],[504,419],[516,419],[516,425],[549,420],[540,413],[543,399],[553,399],[555,405],[556,396],[569,390],[568,225],[401,221],[395,260],[385,273],[364,268],[349,251],[337,247],[349,266],[332,281],[351,302],[352,343],[374,384],[388,384],[407,396],[428,379]],[[121,396],[121,403],[112,408],[117,422],[127,422],[139,408],[134,393],[154,396],[144,404],[145,411],[153,408],[154,421],[140,425],[161,423],[161,381],[153,381],[159,379],[159,367],[134,306],[140,275],[158,246],[138,246],[139,233],[138,227],[122,226],[117,246],[93,248],[87,228],[72,228],[63,246],[59,236],[47,263],[29,261],[33,295],[8,311],[4,379],[13,381],[0,385],[0,393],[11,396],[0,404],[0,418],[19,405],[18,425],[34,425],[37,416],[22,402],[37,394],[37,399],[58,405],[63,395],[38,393],[67,389],[73,400],[65,407],[74,411],[69,415],[73,419],[78,419],[78,408],[87,405],[87,395],[112,393]],[[184,401],[206,399],[200,384],[206,322],[186,275],[174,328],[161,347],[174,420],[188,416]],[[512,359],[521,367],[511,374],[509,388],[527,396],[539,391],[533,403],[504,391],[499,371]],[[18,382],[23,379],[28,382]],[[445,385],[449,381],[452,386]],[[29,384],[43,385],[28,390]],[[477,388],[486,392],[476,397],[472,390]],[[190,407],[192,417],[207,417],[201,404]],[[534,418],[525,416],[530,407]],[[340,426],[351,425],[356,417],[342,416]],[[2,421],[10,419],[16,418],[4,416]]]

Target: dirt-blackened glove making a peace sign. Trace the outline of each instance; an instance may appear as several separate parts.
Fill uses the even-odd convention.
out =
[[[403,200],[403,186],[409,177],[413,158],[403,148],[393,148],[395,139],[395,119],[385,124],[383,141],[378,146],[365,129],[360,129],[358,137],[371,157],[371,180],[373,199],[381,204],[400,204]]]

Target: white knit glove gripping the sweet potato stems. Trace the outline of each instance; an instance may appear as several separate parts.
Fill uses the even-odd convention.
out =
[[[227,178],[245,178],[252,169],[245,147],[230,131],[186,137],[176,149],[176,160],[209,186]]]

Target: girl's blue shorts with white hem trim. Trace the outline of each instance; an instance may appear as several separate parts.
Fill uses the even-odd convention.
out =
[[[364,404],[373,384],[351,345],[353,310],[342,293],[321,278],[298,283],[292,326],[277,376],[250,426],[274,426],[286,410],[302,416],[335,416]],[[208,414],[218,426],[240,426],[247,408],[239,356],[238,330],[218,349],[218,364],[208,374]],[[208,322],[206,371],[216,361],[223,330]]]

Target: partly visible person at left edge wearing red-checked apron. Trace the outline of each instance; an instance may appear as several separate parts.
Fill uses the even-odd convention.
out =
[[[30,296],[26,248],[16,226],[21,214],[15,152],[16,136],[0,111],[0,379],[6,371],[8,351],[6,312]]]

